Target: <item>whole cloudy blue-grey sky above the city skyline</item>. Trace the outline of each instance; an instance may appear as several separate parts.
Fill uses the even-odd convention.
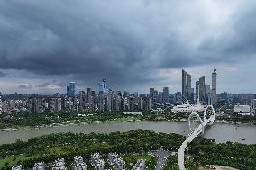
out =
[[[0,91],[181,91],[181,69],[217,92],[256,93],[255,0],[1,0]]]

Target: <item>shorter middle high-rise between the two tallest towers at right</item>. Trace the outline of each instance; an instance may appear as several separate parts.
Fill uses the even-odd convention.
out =
[[[205,76],[199,78],[196,82],[196,101],[206,103],[206,81]]]

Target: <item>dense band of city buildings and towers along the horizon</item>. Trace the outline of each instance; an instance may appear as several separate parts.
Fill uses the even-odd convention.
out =
[[[99,92],[92,88],[78,91],[75,82],[67,86],[66,94],[0,94],[0,113],[2,112],[111,112],[111,111],[150,111],[152,109],[172,108],[176,105],[187,107],[186,104],[215,105],[230,101],[241,111],[255,112],[255,94],[216,94],[216,70],[212,73],[212,88],[206,85],[205,76],[199,78],[195,88],[191,87],[191,75],[182,70],[182,92],[169,93],[169,87],[162,91],[149,89],[149,94],[130,94],[127,91],[114,91],[107,88],[106,79],[99,85]],[[248,111],[249,108],[249,111]],[[196,107],[197,109],[197,107]],[[179,112],[179,110],[178,110]],[[224,112],[228,112],[225,110]]]

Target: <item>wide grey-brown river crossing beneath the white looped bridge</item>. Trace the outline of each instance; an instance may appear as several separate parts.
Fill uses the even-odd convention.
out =
[[[16,139],[27,140],[33,137],[60,132],[73,133],[108,133],[113,131],[128,131],[135,129],[154,130],[156,132],[177,133],[187,136],[188,123],[187,122],[150,122],[150,121],[136,121],[136,122],[104,122],[84,125],[70,125],[59,127],[44,127],[33,130],[16,130],[0,132],[0,144],[13,143]],[[205,130],[205,138],[215,139],[217,143],[226,141],[239,142],[244,144],[256,144],[256,126],[250,125],[233,125],[224,123],[215,123],[207,127]]]

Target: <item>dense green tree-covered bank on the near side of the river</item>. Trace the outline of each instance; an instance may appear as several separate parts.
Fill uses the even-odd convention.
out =
[[[139,122],[130,123],[130,125],[135,126],[135,129],[137,129],[136,123]],[[146,125],[149,122],[142,121],[140,123]],[[96,152],[100,152],[103,156],[107,156],[109,152],[117,152],[121,155],[128,154],[132,157],[126,158],[133,159],[134,153],[143,154],[151,150],[163,149],[177,152],[185,139],[182,135],[158,133],[153,130],[128,130],[121,132],[120,127],[116,126],[117,124],[113,123],[112,125],[119,130],[114,133],[50,133],[49,135],[29,138],[24,142],[17,140],[14,144],[0,145],[0,168],[10,169],[10,166],[15,164],[21,164],[25,168],[32,168],[36,162],[43,161],[48,164],[57,158],[64,158],[67,164],[70,165],[74,156],[80,155],[88,162],[91,154]],[[158,128],[156,125],[148,124],[148,126]],[[96,131],[96,126],[91,127],[91,129]],[[163,124],[161,123],[160,126],[163,126]],[[78,127],[73,128],[77,130]],[[177,124],[173,124],[173,127],[177,127]],[[223,127],[220,128],[222,129]],[[198,138],[193,141],[193,145],[189,146],[190,157],[187,157],[185,164],[190,169],[195,169],[195,166],[206,165],[250,169],[256,166],[256,162],[251,161],[255,159],[255,149],[256,145],[242,145],[238,143],[217,144],[212,139]],[[164,170],[168,170],[169,167],[177,167],[174,169],[178,170],[177,156],[168,157]]]

